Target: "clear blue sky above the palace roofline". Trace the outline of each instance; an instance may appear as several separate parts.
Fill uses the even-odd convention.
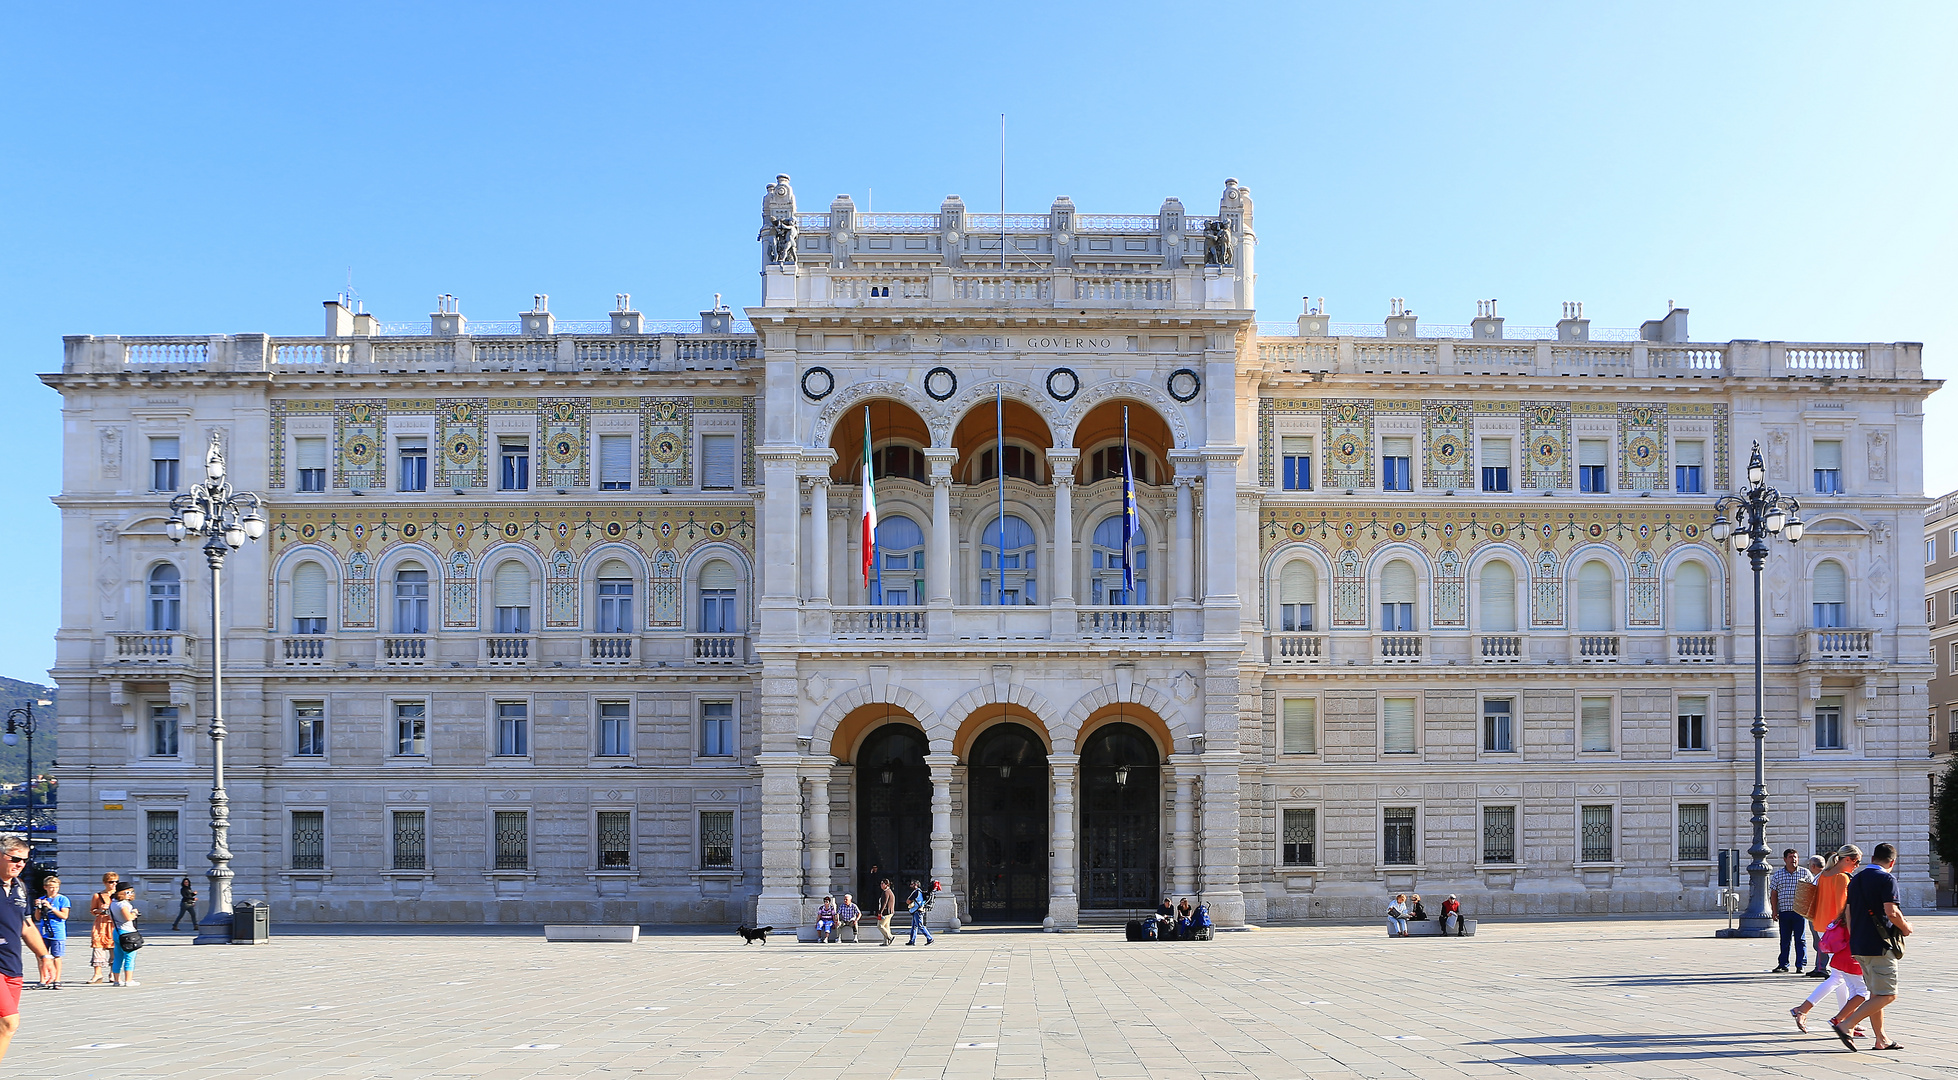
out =
[[[932,10],[928,10],[932,8]],[[754,301],[758,202],[1257,200],[1265,319],[1582,299],[1958,372],[1952,4],[16,4],[0,51],[0,675],[57,622],[61,335],[319,333],[546,292]],[[1958,393],[1958,391],[1954,391]],[[1948,395],[1938,395],[1948,397]],[[1927,483],[1958,487],[1935,399]]]

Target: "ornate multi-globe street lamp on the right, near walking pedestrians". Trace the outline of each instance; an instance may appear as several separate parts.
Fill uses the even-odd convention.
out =
[[[1713,503],[1713,542],[1733,540],[1733,552],[1747,556],[1754,567],[1754,796],[1750,802],[1754,845],[1747,865],[1747,912],[1741,927],[1719,931],[1721,937],[1770,937],[1774,912],[1768,910],[1768,720],[1762,716],[1762,653],[1760,653],[1760,567],[1768,562],[1768,536],[1780,534],[1790,544],[1801,542],[1801,503],[1766,485],[1768,470],[1760,464],[1760,442],[1747,462],[1747,487],[1721,495]],[[1729,520],[1733,515],[1733,520]]]

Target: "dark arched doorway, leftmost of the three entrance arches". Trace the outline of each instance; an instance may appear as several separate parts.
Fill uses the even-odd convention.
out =
[[[877,882],[891,878],[899,904],[905,882],[932,877],[932,769],[924,732],[885,724],[856,753],[858,904],[877,910]]]

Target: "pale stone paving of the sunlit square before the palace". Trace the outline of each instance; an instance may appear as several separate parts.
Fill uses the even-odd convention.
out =
[[[1919,914],[1889,1033],[1848,1055],[1788,1008],[1774,941],[1715,922],[1482,923],[1128,943],[944,933],[936,945],[742,945],[734,933],[544,945],[505,929],[159,933],[133,990],[27,992],[8,1072],[278,1076],[1780,1076],[1950,1078],[1958,918]],[[274,927],[278,929],[278,927]],[[873,935],[875,937],[875,935]],[[1821,1015],[1821,1013],[1819,1013]]]

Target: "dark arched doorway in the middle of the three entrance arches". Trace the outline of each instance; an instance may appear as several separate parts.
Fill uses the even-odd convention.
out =
[[[1048,747],[1024,724],[979,734],[965,759],[973,922],[1048,918]]]

